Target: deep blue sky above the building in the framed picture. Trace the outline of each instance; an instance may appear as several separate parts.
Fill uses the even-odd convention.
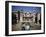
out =
[[[33,6],[12,6],[12,11],[23,10],[25,12],[37,13],[41,12],[41,7],[33,7]]]

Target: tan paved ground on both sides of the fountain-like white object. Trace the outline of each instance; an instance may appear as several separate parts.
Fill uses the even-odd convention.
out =
[[[21,23],[18,23],[16,25],[12,25],[12,30],[13,31],[20,31],[21,30]],[[30,23],[31,26],[31,30],[40,30],[41,29],[41,25],[40,24],[35,24],[35,23]]]

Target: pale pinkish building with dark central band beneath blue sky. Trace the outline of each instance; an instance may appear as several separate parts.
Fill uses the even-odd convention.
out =
[[[17,18],[17,22],[39,23],[39,20],[40,20],[40,13],[31,13],[31,12],[16,13],[15,12],[15,15]]]

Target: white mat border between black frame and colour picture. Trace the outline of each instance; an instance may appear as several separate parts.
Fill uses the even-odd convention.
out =
[[[41,30],[31,30],[31,31],[11,31],[12,30],[12,23],[11,23],[11,13],[12,13],[12,11],[11,11],[11,6],[34,6],[34,7],[41,7],[41,18],[42,18],[42,20],[41,20]],[[9,3],[9,34],[25,34],[25,33],[41,33],[41,32],[43,32],[44,30],[43,30],[43,27],[44,27],[44,21],[43,21],[43,5],[38,5],[38,4],[25,4],[25,3]]]

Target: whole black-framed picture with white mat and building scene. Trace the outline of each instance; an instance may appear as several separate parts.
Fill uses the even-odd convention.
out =
[[[44,33],[44,3],[6,1],[6,35]],[[8,32],[8,33],[7,33]]]

